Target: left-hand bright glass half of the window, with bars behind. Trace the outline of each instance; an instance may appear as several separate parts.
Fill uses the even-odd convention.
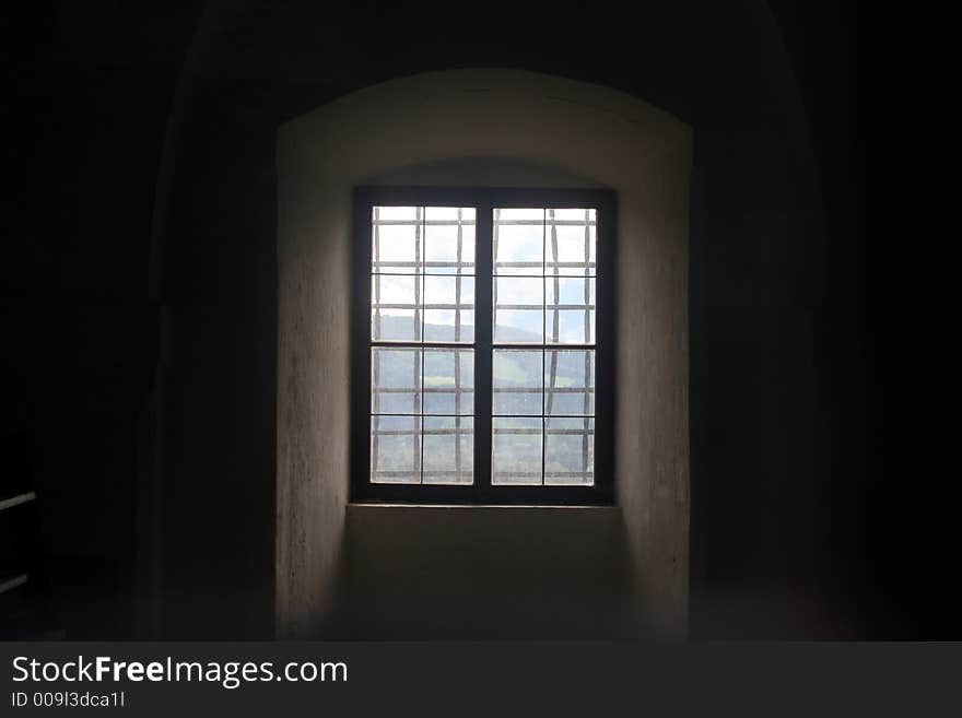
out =
[[[373,208],[374,483],[473,482],[474,215]]]

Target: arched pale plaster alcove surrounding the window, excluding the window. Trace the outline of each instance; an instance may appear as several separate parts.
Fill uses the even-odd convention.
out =
[[[591,637],[647,629],[683,636],[689,567],[688,220],[691,131],[627,94],[515,70],[414,75],[352,93],[278,137],[277,627],[280,637],[473,637],[467,626]],[[351,191],[359,185],[607,187],[617,192],[618,376],[613,508],[349,505]],[[492,555],[474,596],[451,545]],[[484,546],[490,546],[486,552]],[[515,548],[527,548],[517,556]],[[597,572],[572,623],[491,607],[538,566],[544,590]],[[602,568],[599,569],[598,567]],[[369,590],[414,572],[420,636]],[[595,572],[595,573],[593,573]],[[563,575],[564,574],[564,575]],[[594,578],[593,578],[594,577]],[[490,581],[502,582],[491,586]],[[460,588],[451,588],[459,586]],[[618,588],[621,587],[621,588]],[[619,592],[621,616],[594,623]],[[400,593],[399,593],[400,595]],[[529,597],[529,608],[542,596]],[[443,601],[435,601],[441,602]],[[506,604],[507,605],[507,604]],[[383,608],[383,607],[382,607]],[[531,610],[535,610],[531,608]],[[602,625],[603,623],[603,625]],[[413,625],[413,624],[411,624]]]

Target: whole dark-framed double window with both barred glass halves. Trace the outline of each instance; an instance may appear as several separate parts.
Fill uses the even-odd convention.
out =
[[[614,201],[360,188],[354,501],[610,503]]]

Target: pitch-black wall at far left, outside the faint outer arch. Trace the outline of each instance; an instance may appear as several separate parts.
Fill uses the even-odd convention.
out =
[[[154,189],[195,14],[5,9],[0,427],[26,447],[44,570],[77,637],[134,625],[140,415],[159,351]]]

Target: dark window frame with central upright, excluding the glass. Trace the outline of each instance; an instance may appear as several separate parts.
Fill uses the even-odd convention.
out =
[[[471,485],[382,484],[371,471],[371,216],[375,205],[474,207],[474,476]],[[596,214],[595,483],[591,486],[491,483],[493,209],[580,209]],[[352,213],[351,457],[353,503],[476,505],[612,505],[614,502],[614,376],[617,200],[606,189],[490,187],[355,187]],[[423,341],[423,339],[422,339]],[[543,342],[543,338],[542,338]],[[431,346],[432,342],[423,342]],[[555,345],[551,345],[555,346]],[[563,349],[564,345],[556,345]],[[529,349],[543,349],[532,344]]]

